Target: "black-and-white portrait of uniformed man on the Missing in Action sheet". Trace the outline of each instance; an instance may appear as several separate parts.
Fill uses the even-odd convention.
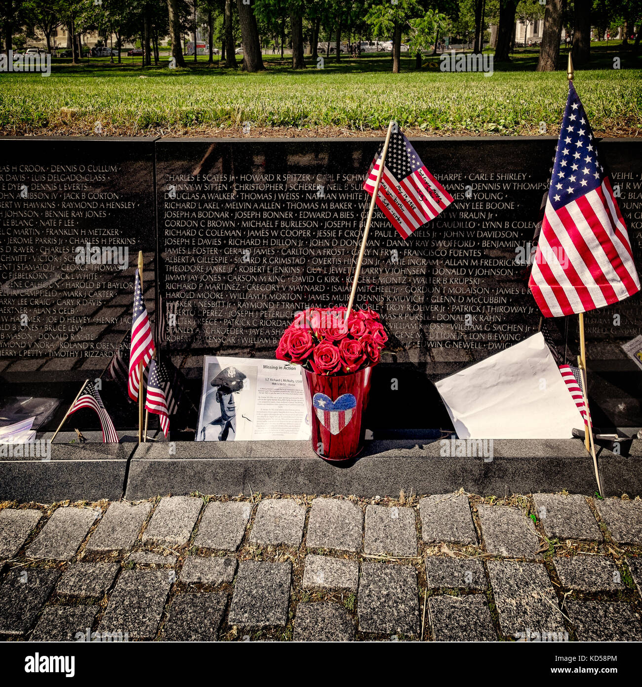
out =
[[[207,386],[197,441],[249,440],[252,436],[256,368],[206,365]]]

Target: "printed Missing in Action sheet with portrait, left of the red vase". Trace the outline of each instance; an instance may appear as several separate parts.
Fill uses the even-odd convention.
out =
[[[217,400],[218,387],[211,385],[222,370],[230,368],[245,375],[242,389],[231,394],[232,412],[221,403],[220,395]],[[310,424],[306,415],[298,365],[257,358],[203,358],[196,441],[307,440]]]

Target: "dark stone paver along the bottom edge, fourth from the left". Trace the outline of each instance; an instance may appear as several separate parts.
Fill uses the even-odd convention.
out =
[[[227,594],[178,594],[174,596],[163,638],[174,642],[216,642]]]

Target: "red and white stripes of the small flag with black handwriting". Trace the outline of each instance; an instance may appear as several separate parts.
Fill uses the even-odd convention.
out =
[[[372,166],[363,188],[372,195],[377,182],[381,158]],[[403,238],[435,218],[452,203],[452,196],[423,166],[405,179],[395,179],[384,166],[376,203]]]

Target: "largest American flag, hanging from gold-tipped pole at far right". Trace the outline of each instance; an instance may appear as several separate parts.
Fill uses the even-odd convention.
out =
[[[626,225],[571,82],[529,289],[545,317],[585,313],[640,289]]]

